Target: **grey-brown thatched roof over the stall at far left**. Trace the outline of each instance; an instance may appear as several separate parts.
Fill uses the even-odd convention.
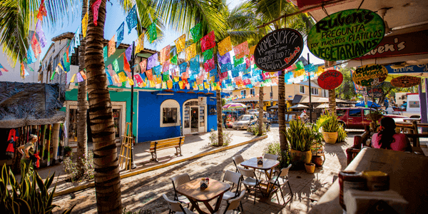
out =
[[[0,128],[63,123],[58,84],[0,82]]]

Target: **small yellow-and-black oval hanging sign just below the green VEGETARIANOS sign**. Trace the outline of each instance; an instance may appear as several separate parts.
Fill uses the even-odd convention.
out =
[[[360,86],[376,86],[385,81],[387,68],[378,64],[370,64],[357,68],[352,74],[352,81]]]

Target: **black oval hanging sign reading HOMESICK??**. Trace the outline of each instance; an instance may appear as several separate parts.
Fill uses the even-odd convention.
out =
[[[303,38],[295,29],[279,29],[260,39],[254,51],[255,65],[263,71],[281,71],[299,58]]]

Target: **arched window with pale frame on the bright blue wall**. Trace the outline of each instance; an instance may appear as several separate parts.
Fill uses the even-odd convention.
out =
[[[166,100],[161,104],[161,127],[180,126],[180,104]]]

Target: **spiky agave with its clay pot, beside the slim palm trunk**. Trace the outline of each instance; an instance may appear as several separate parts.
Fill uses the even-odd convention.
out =
[[[310,163],[312,159],[311,147],[315,138],[312,127],[305,126],[300,120],[293,120],[290,121],[290,128],[287,128],[283,133],[290,143],[291,161],[302,160],[304,163]]]

